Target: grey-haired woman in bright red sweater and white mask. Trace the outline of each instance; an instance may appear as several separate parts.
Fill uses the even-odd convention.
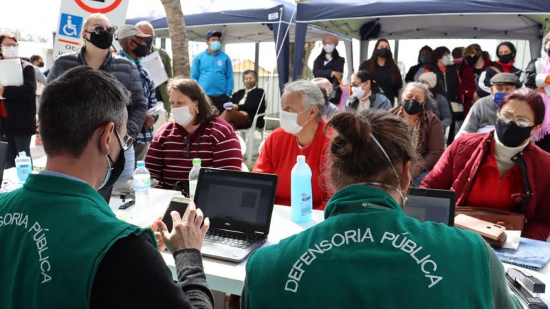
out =
[[[296,156],[305,155],[313,174],[314,208],[325,209],[332,195],[325,176],[330,143],[330,137],[325,134],[327,122],[322,119],[325,97],[313,82],[298,80],[285,87],[281,104],[281,128],[276,128],[265,139],[253,172],[277,174],[275,203],[290,206],[290,172],[296,164]]]

